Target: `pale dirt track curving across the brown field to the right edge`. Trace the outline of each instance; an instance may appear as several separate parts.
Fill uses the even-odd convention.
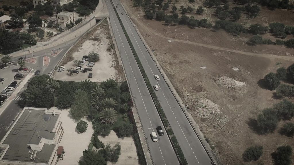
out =
[[[223,50],[223,51],[228,51],[228,52],[233,52],[233,53],[239,53],[239,54],[251,55],[251,56],[259,56],[259,57],[265,57],[265,58],[270,58],[270,59],[284,59],[284,60],[294,61],[294,58],[290,57],[290,56],[281,56],[281,55],[264,54],[264,53],[250,53],[250,52],[245,52],[245,51],[241,51],[241,50],[234,50],[234,49],[223,48],[223,47],[219,47],[219,46],[212,46],[212,45],[203,44],[203,43],[196,43],[196,42],[191,42],[191,41],[185,41],[185,40],[179,40],[179,39],[175,39],[175,38],[170,38],[170,37],[162,35],[161,33],[158,33],[154,29],[151,30],[150,28],[145,26],[131,12],[128,5],[125,5],[124,7],[128,10],[128,15],[131,16],[131,20],[136,24],[136,26],[137,27],[141,26],[142,28],[144,28],[145,31],[148,31],[151,35],[156,35],[156,36],[159,36],[159,37],[162,37],[162,38],[165,38],[167,40],[174,41],[174,42],[187,43],[187,44],[191,44],[191,45],[202,46],[202,47],[216,49],[216,50]],[[140,29],[139,29],[139,31],[140,31]]]

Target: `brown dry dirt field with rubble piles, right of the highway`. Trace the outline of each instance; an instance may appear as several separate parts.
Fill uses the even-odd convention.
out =
[[[165,26],[164,22],[146,20],[143,9],[132,8],[130,0],[122,2],[182,100],[187,101],[189,112],[201,131],[210,139],[220,164],[242,164],[243,151],[261,145],[263,155],[258,162],[273,165],[271,153],[279,145],[294,147],[293,138],[278,133],[283,121],[273,134],[259,135],[251,128],[252,119],[256,119],[262,109],[281,101],[273,98],[274,91],[259,87],[258,80],[279,67],[294,63],[293,49],[275,45],[248,46],[246,41],[252,37],[250,34],[233,36],[223,30]],[[195,6],[202,3],[198,1]],[[188,0],[179,0],[176,5],[179,8],[182,4],[188,6]],[[208,10],[202,16],[193,16],[214,22],[217,19],[212,14],[214,9]],[[293,18],[294,14],[290,15],[289,11],[269,11],[262,7],[260,16],[249,20],[242,18],[240,22],[279,21],[292,25]],[[276,65],[276,62],[281,64]]]

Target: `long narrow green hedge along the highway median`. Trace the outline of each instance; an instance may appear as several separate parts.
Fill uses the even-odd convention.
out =
[[[178,144],[178,140],[176,139],[176,136],[174,135],[173,130],[171,129],[171,127],[170,127],[170,125],[168,123],[168,120],[166,118],[166,115],[163,112],[163,109],[162,109],[162,107],[161,107],[161,105],[160,105],[160,103],[158,101],[158,98],[157,98],[157,96],[156,96],[156,94],[155,94],[155,92],[153,90],[153,87],[152,87],[152,85],[151,85],[151,83],[150,83],[150,81],[149,81],[149,79],[148,79],[148,77],[147,77],[147,75],[145,73],[145,70],[144,70],[144,68],[143,68],[143,66],[141,64],[141,61],[140,61],[137,53],[136,53],[136,50],[135,50],[135,48],[134,48],[134,46],[133,46],[133,44],[132,44],[132,42],[131,42],[131,40],[130,40],[130,38],[128,36],[128,33],[126,32],[125,27],[123,26],[123,23],[121,21],[121,18],[119,17],[119,15],[118,15],[118,13],[117,13],[117,11],[116,11],[116,9],[115,9],[114,4],[113,4],[112,1],[111,1],[111,4],[112,4],[113,9],[114,9],[114,11],[116,13],[116,16],[118,17],[118,21],[121,24],[121,27],[123,29],[123,33],[125,34],[125,36],[127,38],[127,41],[128,41],[128,43],[129,43],[129,45],[131,47],[131,50],[133,52],[133,55],[134,55],[134,57],[136,59],[136,62],[138,64],[139,69],[140,69],[140,71],[142,73],[142,76],[144,78],[144,81],[145,81],[145,83],[146,83],[146,85],[148,87],[148,90],[149,90],[149,92],[151,94],[151,97],[153,99],[153,102],[155,103],[156,109],[159,112],[159,116],[161,117],[161,120],[163,121],[163,125],[166,128],[166,130],[167,130],[168,137],[171,139],[172,146],[173,146],[173,148],[176,151],[176,154],[178,156],[178,159],[180,161],[180,164],[182,164],[182,165],[188,165],[187,160],[186,160],[186,158],[185,158],[185,156],[183,154],[183,151],[182,151],[180,145]]]

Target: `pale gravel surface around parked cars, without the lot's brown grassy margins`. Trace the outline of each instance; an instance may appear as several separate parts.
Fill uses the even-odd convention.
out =
[[[108,47],[108,39],[105,34],[100,32],[101,30],[96,31],[95,35],[99,36],[100,41],[94,40],[86,40],[80,48],[78,48],[78,52],[74,53],[72,56],[74,60],[82,60],[84,55],[88,55],[90,52],[98,53],[100,56],[100,60],[95,62],[93,67],[87,67],[86,65],[90,61],[86,61],[85,64],[82,65],[83,68],[92,68],[92,71],[87,71],[87,73],[81,73],[81,70],[78,70],[80,73],[68,75],[67,69],[73,68],[76,70],[77,65],[74,65],[74,60],[68,62],[64,65],[65,69],[62,72],[54,72],[54,79],[56,80],[65,80],[65,81],[81,81],[85,79],[90,79],[93,82],[102,82],[103,80],[113,78],[116,79],[118,76],[116,74],[116,70],[114,68],[115,61],[112,52],[106,51]],[[89,73],[92,73],[92,78],[88,78]]]

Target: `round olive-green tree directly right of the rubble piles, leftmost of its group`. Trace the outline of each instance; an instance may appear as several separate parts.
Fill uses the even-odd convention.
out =
[[[275,110],[266,108],[257,116],[257,125],[262,134],[273,132],[278,125],[278,117]]]

